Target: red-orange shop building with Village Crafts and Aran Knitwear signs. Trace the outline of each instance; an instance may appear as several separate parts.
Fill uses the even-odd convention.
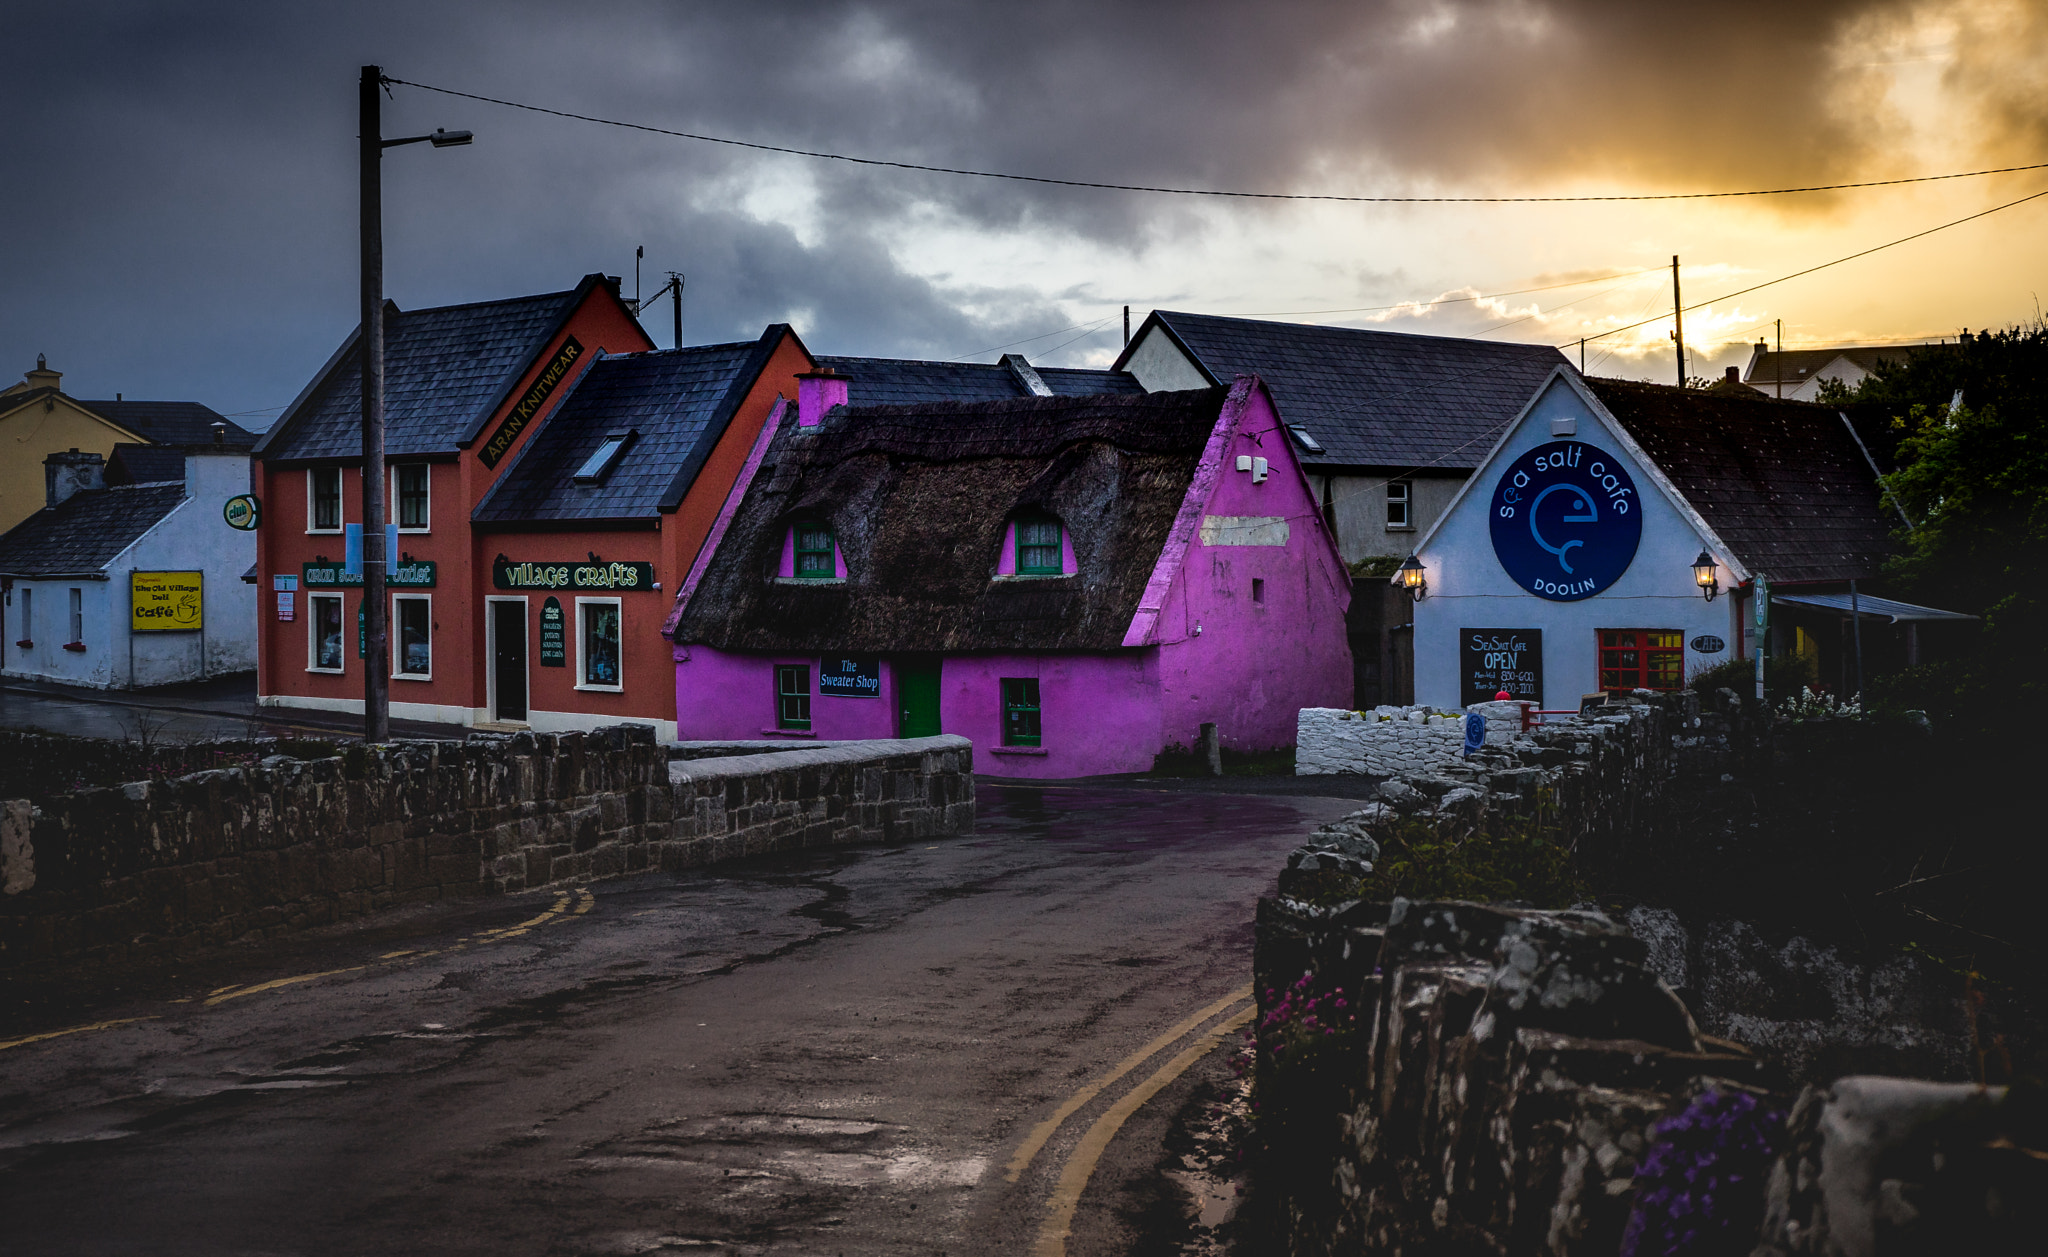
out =
[[[662,620],[778,395],[811,358],[653,350],[600,274],[567,293],[385,315],[391,714],[674,739]],[[258,692],[362,710],[356,336],[256,446]]]

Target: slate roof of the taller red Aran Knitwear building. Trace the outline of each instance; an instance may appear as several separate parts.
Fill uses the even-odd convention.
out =
[[[385,305],[385,454],[461,448],[584,295],[565,293],[401,311]],[[356,332],[256,446],[262,459],[362,459],[362,356]],[[598,346],[584,346],[596,350]]]

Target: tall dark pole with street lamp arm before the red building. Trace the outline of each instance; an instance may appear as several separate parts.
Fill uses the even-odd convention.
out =
[[[365,66],[356,88],[362,190],[362,737],[391,741],[391,641],[385,614],[383,467],[383,151],[401,143],[459,147],[469,131],[383,137],[383,68]]]

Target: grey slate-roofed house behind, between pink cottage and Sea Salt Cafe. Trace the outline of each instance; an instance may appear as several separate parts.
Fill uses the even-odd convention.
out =
[[[1565,364],[1540,344],[1155,309],[1114,369],[1145,389],[1266,381],[1343,561],[1368,573],[1352,600],[1352,704],[1374,706],[1415,700],[1411,608],[1386,573]]]

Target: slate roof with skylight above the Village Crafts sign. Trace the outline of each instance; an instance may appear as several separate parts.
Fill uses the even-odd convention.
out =
[[[674,510],[733,414],[788,336],[600,358],[477,504],[475,522],[629,520]],[[606,432],[633,430],[610,473],[590,485],[575,471]]]

